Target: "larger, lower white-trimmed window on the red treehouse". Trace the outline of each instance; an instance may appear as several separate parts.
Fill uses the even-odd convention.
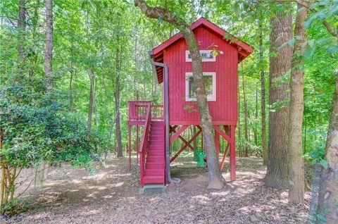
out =
[[[216,73],[203,73],[208,101],[216,101]],[[192,73],[185,73],[185,101],[196,101],[195,83]]]

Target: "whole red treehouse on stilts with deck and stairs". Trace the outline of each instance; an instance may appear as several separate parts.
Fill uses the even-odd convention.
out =
[[[237,124],[237,68],[253,48],[225,30],[200,18],[191,26],[199,43],[204,86],[208,93],[208,106],[213,118],[215,144],[220,154],[220,136],[227,147],[220,163],[230,151],[230,179],[236,180],[235,128]],[[170,163],[184,151],[193,149],[191,143],[201,134],[199,113],[196,111],[192,58],[182,34],[177,33],[149,52],[154,76],[163,83],[163,105],[151,101],[129,101],[129,168],[131,168],[131,130],[136,126],[136,151],[139,162],[140,183],[144,185],[172,182]],[[193,108],[193,109],[187,109]],[[195,109],[194,109],[195,108]],[[143,135],[139,142],[139,126]],[[182,137],[187,127],[197,129],[189,141]],[[184,146],[170,158],[170,144],[180,138]],[[138,158],[139,155],[139,158]]]

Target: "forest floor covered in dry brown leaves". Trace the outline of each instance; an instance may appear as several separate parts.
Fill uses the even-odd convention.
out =
[[[237,158],[235,182],[228,170],[224,189],[210,191],[206,168],[180,158],[172,176],[182,183],[143,195],[138,168],[133,164],[128,172],[127,158],[109,158],[94,174],[68,165],[50,168],[48,180],[25,192],[25,211],[6,223],[305,223],[310,192],[305,205],[288,204],[287,191],[263,186],[260,158]]]

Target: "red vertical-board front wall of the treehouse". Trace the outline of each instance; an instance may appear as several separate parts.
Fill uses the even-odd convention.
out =
[[[216,101],[209,101],[209,109],[214,123],[235,124],[237,120],[237,48],[225,42],[206,27],[194,30],[201,50],[211,50],[217,45],[215,62],[203,62],[204,72],[216,73]],[[209,48],[208,48],[209,47]],[[185,73],[192,72],[192,63],[185,62],[187,44],[184,39],[168,46],[164,51],[163,62],[168,66],[169,77],[169,120],[170,125],[198,124],[199,113],[184,109],[185,105],[196,108],[196,103],[185,101]]]

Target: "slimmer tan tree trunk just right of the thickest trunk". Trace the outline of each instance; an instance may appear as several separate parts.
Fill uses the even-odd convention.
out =
[[[306,51],[307,34],[304,22],[308,18],[308,10],[297,4],[296,26],[294,36],[301,37],[296,40],[292,56],[292,71],[290,78],[290,104],[289,104],[289,202],[304,202],[304,159],[302,149],[303,124],[303,78],[304,61],[302,55]]]

